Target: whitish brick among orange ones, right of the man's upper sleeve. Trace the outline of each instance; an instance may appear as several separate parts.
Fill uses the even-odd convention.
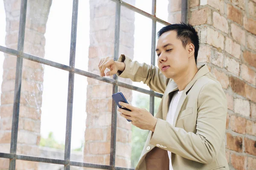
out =
[[[235,99],[234,106],[235,113],[239,113],[246,117],[250,116],[250,104],[247,100]]]

